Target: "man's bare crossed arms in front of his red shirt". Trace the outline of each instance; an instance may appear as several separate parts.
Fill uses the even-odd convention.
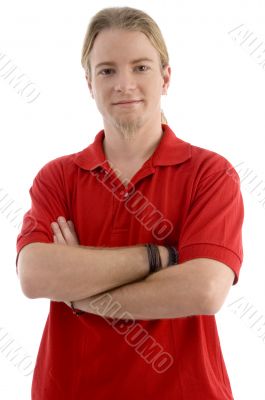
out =
[[[148,275],[144,246],[96,248],[80,246],[71,221],[52,223],[54,243],[30,243],[18,258],[22,291],[29,298],[48,298],[105,317],[93,306],[106,294],[133,319],[178,318],[215,314],[234,280],[226,264],[197,258],[166,268],[167,250],[159,246],[164,268]]]

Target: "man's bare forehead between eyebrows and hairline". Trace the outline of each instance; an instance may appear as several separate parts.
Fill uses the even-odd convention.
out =
[[[91,62],[126,62],[136,58],[149,58],[159,62],[159,53],[148,37],[140,31],[104,29],[91,50]]]

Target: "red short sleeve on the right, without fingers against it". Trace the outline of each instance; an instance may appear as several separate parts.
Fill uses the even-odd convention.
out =
[[[179,262],[212,258],[239,278],[243,261],[244,205],[240,179],[231,166],[202,177],[197,184],[179,238]]]

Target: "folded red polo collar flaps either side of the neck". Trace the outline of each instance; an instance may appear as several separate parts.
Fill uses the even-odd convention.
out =
[[[162,124],[164,134],[150,158],[153,166],[176,165],[191,158],[191,144],[179,139],[171,128]],[[101,130],[95,136],[94,142],[84,150],[73,155],[74,162],[86,170],[93,170],[106,162],[103,150],[103,139],[105,133]]]

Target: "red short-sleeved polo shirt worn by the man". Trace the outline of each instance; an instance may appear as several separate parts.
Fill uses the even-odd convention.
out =
[[[31,242],[52,243],[50,224],[63,215],[81,245],[174,245],[179,263],[206,257],[227,264],[235,284],[244,213],[239,177],[224,157],[162,127],[156,150],[127,187],[105,159],[104,130],[79,153],[48,162],[30,188],[17,253]],[[233,399],[215,316],[118,321],[76,316],[51,301],[32,399],[124,398]]]

